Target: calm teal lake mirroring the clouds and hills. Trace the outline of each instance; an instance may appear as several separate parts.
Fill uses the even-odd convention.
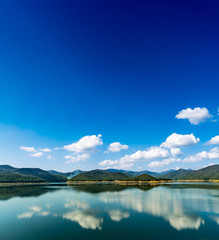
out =
[[[219,239],[219,184],[0,188],[1,240]]]

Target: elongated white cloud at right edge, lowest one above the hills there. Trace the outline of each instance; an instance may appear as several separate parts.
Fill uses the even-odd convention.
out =
[[[204,159],[219,159],[219,148],[212,148],[209,152],[202,151],[195,155],[189,156],[183,160],[183,162],[199,162]]]

